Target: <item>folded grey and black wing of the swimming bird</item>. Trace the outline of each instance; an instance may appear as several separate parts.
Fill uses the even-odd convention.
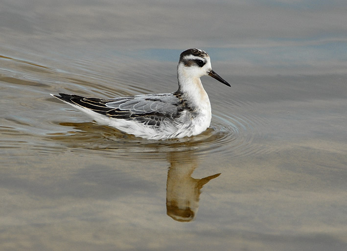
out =
[[[137,95],[114,99],[99,99],[59,93],[55,97],[90,109],[98,114],[118,119],[136,119],[147,125],[159,126],[163,121],[178,117],[182,101],[173,93]]]

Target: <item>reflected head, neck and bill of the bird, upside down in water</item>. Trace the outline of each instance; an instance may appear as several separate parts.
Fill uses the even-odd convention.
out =
[[[196,156],[185,153],[170,153],[170,168],[166,182],[166,214],[175,221],[194,220],[199,208],[201,188],[220,173],[202,179],[194,179],[192,173],[198,166]]]

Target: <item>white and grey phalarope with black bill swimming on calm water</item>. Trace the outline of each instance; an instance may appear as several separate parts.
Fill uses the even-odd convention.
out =
[[[181,53],[177,66],[178,90],[172,93],[135,95],[112,99],[59,93],[52,96],[91,116],[96,122],[147,139],[198,135],[211,122],[211,105],[200,77],[209,75],[230,87],[211,68],[200,49]]]

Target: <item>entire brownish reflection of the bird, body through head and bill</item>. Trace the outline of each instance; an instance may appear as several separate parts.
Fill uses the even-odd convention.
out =
[[[215,140],[212,130],[193,138],[181,141],[152,141],[141,139],[139,143],[135,136],[127,136],[116,129],[100,126],[94,123],[59,123],[73,127],[66,133],[49,134],[49,139],[58,140],[75,149],[86,148],[98,150],[98,154],[108,158],[129,156],[129,158],[153,158],[167,160],[170,168],[166,181],[166,214],[175,221],[189,222],[194,220],[199,208],[201,188],[220,173],[202,179],[192,178],[194,170],[199,165],[199,154],[202,143]],[[204,141],[205,139],[205,141]],[[87,147],[88,146],[88,147]],[[102,152],[100,152],[102,151]]]

